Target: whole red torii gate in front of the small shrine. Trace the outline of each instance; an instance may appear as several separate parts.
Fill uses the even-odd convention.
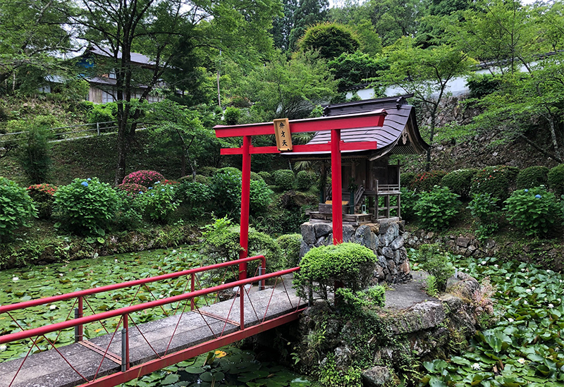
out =
[[[341,186],[341,151],[376,149],[375,141],[342,142],[341,130],[356,128],[374,128],[384,124],[386,111],[379,109],[367,113],[350,114],[346,116],[329,116],[319,118],[306,118],[288,121],[291,133],[319,132],[331,130],[331,142],[314,145],[293,145],[290,152],[328,152],[331,151],[331,189],[333,202],[341,202],[343,196]],[[241,219],[240,219],[240,245],[243,250],[240,258],[247,257],[249,244],[249,201],[250,201],[250,176],[251,154],[282,153],[278,147],[253,147],[253,135],[274,135],[274,124],[251,123],[247,125],[216,125],[216,137],[243,137],[243,147],[223,148],[221,154],[243,154],[243,181],[241,185]],[[335,203],[333,203],[335,204]],[[333,205],[333,245],[343,242],[343,209],[341,205]],[[247,263],[239,267],[239,278],[246,278]]]

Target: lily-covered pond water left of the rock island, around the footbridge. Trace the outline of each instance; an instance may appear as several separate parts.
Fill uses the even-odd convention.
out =
[[[26,269],[11,269],[0,272],[0,283],[4,284],[0,289],[0,303],[6,305],[35,300],[112,283],[159,276],[201,265],[202,256],[197,251],[197,247],[184,246],[168,250],[116,254],[48,266],[32,266]],[[222,280],[221,274],[216,272],[200,277],[200,281],[211,284]],[[177,295],[186,291],[185,282],[180,279],[172,282],[162,281],[152,283],[147,288],[92,295],[85,298],[87,300],[85,314],[125,307],[132,302]],[[202,297],[195,301],[198,305],[204,305],[213,300],[214,296],[211,295],[207,300]],[[2,315],[0,335],[20,331],[20,327],[29,329],[65,321],[74,307],[74,300],[68,300],[30,308],[32,313],[13,312],[11,315],[15,321],[7,315]],[[159,319],[164,317],[164,313],[173,312],[172,309],[173,305],[166,305],[163,310],[155,309],[154,314],[138,314],[135,319],[137,322]],[[105,326],[99,323],[88,324],[85,326],[85,338],[100,336],[106,333],[106,329],[116,328],[118,321],[118,318],[111,319],[106,321]],[[74,340],[72,330],[63,331],[59,336],[57,333],[49,333],[46,336],[49,340],[56,340],[57,345],[67,345]],[[40,339],[37,345],[41,350],[51,348],[47,340]],[[0,346],[0,361],[21,357],[29,348],[28,340]],[[38,351],[34,349],[34,352]],[[295,374],[281,365],[261,361],[257,357],[254,352],[240,350],[235,345],[230,345],[143,376],[139,380],[130,381],[125,386],[309,386],[310,382],[304,376]]]

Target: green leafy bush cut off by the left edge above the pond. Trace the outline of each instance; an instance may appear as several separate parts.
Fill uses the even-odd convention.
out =
[[[0,242],[10,239],[18,228],[29,227],[36,212],[25,188],[0,176]]]

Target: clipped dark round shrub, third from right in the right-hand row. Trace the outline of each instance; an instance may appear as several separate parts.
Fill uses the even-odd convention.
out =
[[[472,194],[489,193],[501,201],[511,193],[510,182],[515,181],[519,169],[510,166],[486,166],[480,169],[472,179]]]

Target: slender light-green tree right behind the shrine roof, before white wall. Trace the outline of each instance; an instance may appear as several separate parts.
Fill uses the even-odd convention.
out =
[[[421,49],[412,38],[400,39],[388,54],[390,68],[377,79],[385,85],[413,93],[429,112],[429,144],[433,145],[436,119],[441,102],[448,96],[448,81],[470,71],[475,63],[456,47],[442,45]],[[431,167],[431,148],[427,150],[426,169]]]

